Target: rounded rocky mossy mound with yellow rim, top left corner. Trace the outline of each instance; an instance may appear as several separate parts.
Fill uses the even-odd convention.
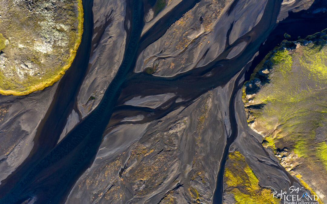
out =
[[[81,0],[3,0],[0,13],[0,93],[24,95],[58,81],[81,41]]]

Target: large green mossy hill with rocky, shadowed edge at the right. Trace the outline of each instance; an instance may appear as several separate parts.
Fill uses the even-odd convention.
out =
[[[326,31],[283,41],[243,88],[249,126],[265,137],[281,164],[321,194],[327,188]],[[310,41],[312,40],[312,41]],[[303,175],[304,174],[304,175]]]

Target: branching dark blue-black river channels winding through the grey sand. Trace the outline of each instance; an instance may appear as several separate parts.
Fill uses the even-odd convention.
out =
[[[319,32],[327,28],[327,15],[290,13],[289,17],[277,25],[276,19],[281,0],[269,0],[261,21],[234,43],[226,43],[225,51],[208,65],[174,77],[134,73],[135,62],[141,51],[160,38],[171,24],[197,2],[182,1],[181,7],[176,7],[167,13],[141,38],[143,5],[141,1],[128,1],[127,11],[130,12],[127,13],[130,14],[127,15],[125,24],[127,25],[129,20],[131,27],[127,35],[123,62],[97,108],[57,144],[67,117],[76,104],[77,93],[89,65],[93,34],[93,1],[83,0],[84,33],[76,58],[59,82],[54,100],[37,130],[35,145],[30,155],[7,179],[2,181],[0,203],[22,203],[34,196],[37,196],[36,203],[63,203],[76,180],[92,164],[109,122],[112,120],[118,122],[121,118],[134,115],[135,112],[153,113],[135,123],[161,118],[172,110],[191,103],[208,90],[227,84],[235,74],[240,72],[234,82],[232,96],[229,101],[226,101],[229,104],[232,133],[227,138],[213,201],[213,203],[222,203],[225,162],[229,147],[237,137],[238,131],[234,109],[235,96],[242,88],[243,76],[245,75],[245,81],[249,80],[254,67],[284,39],[285,32],[291,35],[291,39],[288,40],[296,40],[298,36],[303,38]],[[248,44],[245,50],[232,59],[226,59],[232,48],[243,41]],[[252,64],[246,66],[258,51],[259,54]],[[208,76],[209,72],[210,76]],[[172,92],[185,100],[156,110],[122,105],[133,96]],[[119,116],[121,118],[111,118],[114,112],[121,112]]]

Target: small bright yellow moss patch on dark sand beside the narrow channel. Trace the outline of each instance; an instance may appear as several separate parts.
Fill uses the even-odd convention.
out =
[[[227,184],[225,193],[232,193],[236,203],[271,204],[280,201],[273,198],[271,189],[259,185],[258,178],[239,151],[228,156],[224,182]]]

